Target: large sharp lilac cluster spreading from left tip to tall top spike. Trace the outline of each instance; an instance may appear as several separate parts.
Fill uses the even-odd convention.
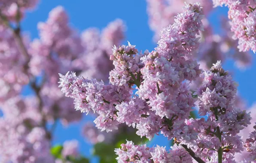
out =
[[[162,33],[162,39],[156,51],[152,53],[148,51],[144,54],[138,53],[135,46],[130,43],[128,46],[122,45],[118,48],[114,46],[110,60],[113,60],[115,69],[110,72],[110,85],[104,85],[103,82],[95,79],[89,80],[76,76],[72,72],[66,75],[60,74],[59,87],[65,96],[74,98],[77,110],[86,113],[91,110],[99,115],[94,120],[99,129],[111,131],[117,129],[120,123],[125,122],[133,127],[136,126],[138,135],[152,139],[160,128],[166,130],[163,126],[166,126],[168,119],[171,121],[177,118],[184,119],[189,116],[191,107],[194,106],[192,92],[189,91],[188,85],[182,82],[195,80],[201,73],[201,69],[195,60],[186,60],[184,56],[197,51],[196,33],[203,29],[201,19],[201,7],[197,3],[187,5],[184,12],[177,16],[177,22]],[[177,43],[168,40],[174,40]],[[171,47],[175,47],[175,50],[171,50]],[[151,66],[150,63],[154,65]],[[161,70],[156,74],[157,76],[149,77],[149,68],[155,73],[160,68]],[[132,85],[140,88],[137,94],[142,100],[135,98],[133,102],[129,99],[133,90]],[[146,95],[144,93],[146,90],[153,91],[153,93]],[[174,92],[174,95],[171,92]],[[164,102],[165,95],[168,96],[170,102]],[[143,104],[147,100],[152,109]],[[162,101],[160,105],[163,110],[155,112],[159,101]],[[128,103],[135,104],[136,107],[127,107]],[[168,109],[164,110],[166,106]],[[172,106],[175,106],[174,109],[169,110]],[[133,112],[131,109],[135,108],[137,108],[137,113],[133,120],[138,122],[137,125],[128,121],[129,112]],[[161,117],[166,119],[163,120]]]

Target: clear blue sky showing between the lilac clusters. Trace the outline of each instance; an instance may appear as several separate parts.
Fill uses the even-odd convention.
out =
[[[37,22],[45,21],[49,11],[58,6],[64,6],[69,18],[70,24],[77,30],[82,31],[88,27],[104,28],[110,21],[121,18],[127,25],[126,38],[131,44],[136,45],[140,50],[152,50],[155,43],[152,41],[153,33],[148,26],[148,17],[146,14],[146,0],[41,0],[37,10],[27,13],[22,27],[24,31],[29,31],[32,38],[38,37]],[[210,24],[213,25],[215,33],[219,33],[220,15],[227,16],[226,8],[217,8],[210,15]],[[232,61],[227,61],[224,67],[235,73],[235,80],[239,83],[238,91],[251,106],[255,98],[256,86],[256,57],[253,54],[253,66],[245,71],[236,69]],[[80,132],[82,124],[91,121],[91,118],[85,118],[79,124],[72,124],[67,128],[59,124],[55,130],[55,139],[53,144],[62,143],[66,139],[78,139],[80,141],[80,151],[82,154],[89,155],[91,145],[87,144]],[[168,146],[167,140],[162,136],[156,136],[151,145],[158,144]]]

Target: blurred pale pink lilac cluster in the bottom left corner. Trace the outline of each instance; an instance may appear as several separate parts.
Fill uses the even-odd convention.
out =
[[[35,99],[33,99],[35,101]],[[15,97],[1,106],[0,161],[3,163],[54,163],[48,133],[40,126],[42,116],[30,99]]]

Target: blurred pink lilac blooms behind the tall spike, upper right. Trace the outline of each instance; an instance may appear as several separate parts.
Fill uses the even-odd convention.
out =
[[[187,0],[186,2],[200,2],[203,7],[202,11],[206,16],[213,12],[213,3],[211,0]],[[175,22],[174,16],[182,11],[182,8],[179,6],[183,6],[183,3],[181,0],[147,0],[149,26],[155,32],[155,41],[158,41],[161,36],[158,33],[162,31],[163,27],[168,27],[169,24]],[[200,31],[201,38],[199,41],[201,44],[199,52],[194,53],[193,57],[196,57],[201,63],[206,64],[207,69],[213,63],[216,63],[217,60],[224,61],[227,57],[232,57],[235,60],[235,65],[240,69],[246,68],[251,63],[251,55],[248,52],[238,51],[238,42],[232,39],[233,33],[230,31],[230,25],[226,21],[224,20],[222,22],[224,24],[222,30],[225,30],[225,32],[219,36],[213,33],[213,29],[206,17],[202,20],[204,31]],[[253,25],[250,27],[252,28]]]

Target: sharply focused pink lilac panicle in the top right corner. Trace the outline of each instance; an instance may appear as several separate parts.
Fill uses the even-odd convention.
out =
[[[240,51],[256,51],[256,1],[255,0],[213,0],[214,6],[228,6],[231,30],[238,39]]]

